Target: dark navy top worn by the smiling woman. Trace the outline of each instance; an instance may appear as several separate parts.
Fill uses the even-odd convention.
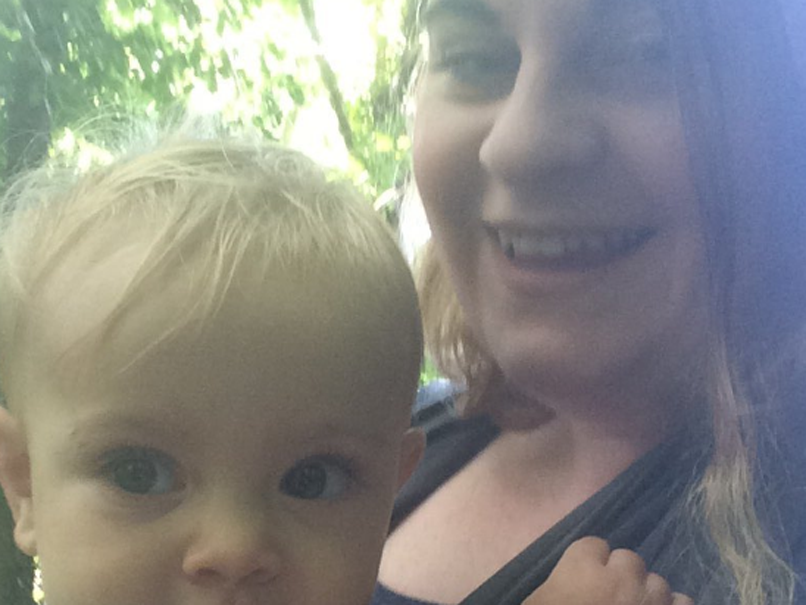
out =
[[[798,414],[799,416],[800,414]],[[401,490],[391,531],[440,485],[498,435],[486,417],[462,420],[450,400],[420,409],[415,424],[428,436],[426,454]],[[769,537],[806,579],[806,422],[789,422],[788,435],[760,447],[760,510]],[[684,502],[710,458],[707,433],[680,434],[636,461],[609,485],[572,511],[469,595],[462,605],[519,605],[551,573],[567,546],[583,536],[599,536],[612,548],[640,554],[647,568],[697,605],[733,605],[731,581],[708,532]],[[794,447],[793,447],[794,446]],[[378,585],[371,605],[439,605],[409,598]],[[802,587],[795,605],[806,605]]]

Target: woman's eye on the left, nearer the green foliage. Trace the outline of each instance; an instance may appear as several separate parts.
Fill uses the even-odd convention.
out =
[[[467,92],[500,96],[515,85],[520,55],[506,49],[457,49],[431,53],[430,70],[451,78]]]

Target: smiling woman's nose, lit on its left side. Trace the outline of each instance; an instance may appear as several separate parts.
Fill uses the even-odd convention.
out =
[[[479,155],[494,177],[531,180],[590,167],[602,157],[605,138],[595,98],[547,66],[522,63],[509,96],[493,112]]]

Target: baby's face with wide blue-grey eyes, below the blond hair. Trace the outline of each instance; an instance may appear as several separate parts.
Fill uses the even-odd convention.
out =
[[[97,273],[84,284],[95,304],[63,299],[29,367],[58,363],[83,314],[114,298],[115,272]],[[203,332],[123,372],[31,370],[17,389],[33,488],[20,542],[39,556],[48,605],[368,602],[399,475],[419,451],[413,385],[395,380],[380,336],[350,340],[333,301],[282,276],[267,289],[256,301],[236,288]],[[97,367],[125,365],[159,333],[178,296],[165,291]],[[359,325],[370,311],[354,312]]]

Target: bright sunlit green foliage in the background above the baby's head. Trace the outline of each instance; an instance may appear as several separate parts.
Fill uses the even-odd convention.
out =
[[[319,42],[313,0],[5,0],[0,180],[40,162],[67,127],[99,114],[106,122],[179,114],[204,88],[226,100],[211,111],[273,139],[326,95],[350,174],[378,196],[407,169],[401,108],[416,55],[415,2],[363,3],[375,16],[375,78],[345,101],[328,58],[303,48]],[[390,6],[400,12],[393,34],[377,27]],[[294,22],[294,34],[284,31]]]

